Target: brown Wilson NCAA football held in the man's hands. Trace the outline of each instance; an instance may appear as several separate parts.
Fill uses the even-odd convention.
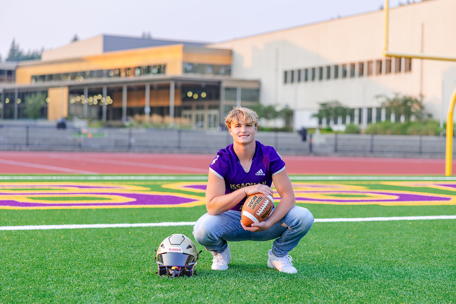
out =
[[[241,210],[241,221],[247,227],[252,227],[253,223],[263,222],[271,214],[274,206],[272,196],[257,193],[248,196]]]

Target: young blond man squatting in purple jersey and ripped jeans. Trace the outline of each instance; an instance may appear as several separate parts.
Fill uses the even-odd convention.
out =
[[[209,165],[207,213],[193,228],[195,240],[213,255],[212,269],[228,269],[231,252],[227,242],[276,239],[268,252],[268,267],[296,273],[288,252],[312,227],[309,210],[295,206],[295,194],[285,162],[273,147],[255,141],[258,115],[244,107],[233,108],[225,118],[233,144],[220,149]],[[241,209],[247,196],[273,196],[274,182],[280,202],[264,222],[245,227]]]

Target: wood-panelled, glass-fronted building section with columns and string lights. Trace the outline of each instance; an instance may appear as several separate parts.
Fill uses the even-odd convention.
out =
[[[73,46],[78,43],[69,47]],[[4,119],[27,118],[26,100],[34,92],[44,96],[40,118],[161,119],[194,129],[215,129],[233,105],[259,102],[258,81],[231,77],[230,50],[183,42],[118,49],[87,59],[53,57],[67,53],[71,52],[44,52],[45,60],[3,69],[0,81],[5,78],[6,84],[0,83],[0,101]]]

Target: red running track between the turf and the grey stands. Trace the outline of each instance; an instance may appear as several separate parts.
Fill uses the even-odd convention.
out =
[[[214,155],[0,152],[0,174],[207,174]],[[283,156],[289,174],[444,175],[445,160]],[[453,167],[455,171],[456,165]],[[456,171],[455,171],[456,172]]]

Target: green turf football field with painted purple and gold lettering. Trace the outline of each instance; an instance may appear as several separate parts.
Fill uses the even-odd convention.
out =
[[[0,226],[194,222],[206,211],[202,176],[12,178],[0,182]],[[316,219],[456,215],[456,181],[291,179]],[[267,268],[272,241],[231,242],[227,271],[203,251],[198,276],[174,279],[155,274],[154,249],[173,233],[193,239],[191,226],[3,230],[0,303],[454,303],[455,223],[315,222],[290,252],[297,274]]]

